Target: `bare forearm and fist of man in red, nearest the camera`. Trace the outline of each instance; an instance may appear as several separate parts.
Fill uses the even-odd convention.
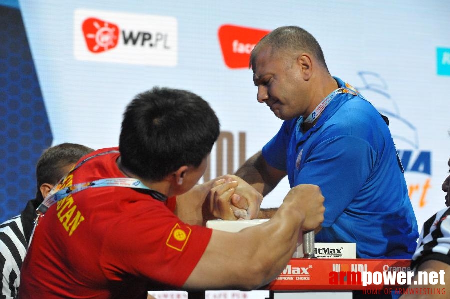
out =
[[[184,287],[254,289],[268,283],[292,257],[300,229],[322,223],[323,200],[319,187],[299,185],[270,221],[238,233],[214,230]]]

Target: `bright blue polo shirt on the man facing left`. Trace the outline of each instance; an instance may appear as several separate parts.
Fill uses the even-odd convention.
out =
[[[334,77],[339,87],[345,83]],[[305,134],[284,121],[263,147],[291,187],[315,184],[325,197],[316,242],[355,242],[359,258],[410,259],[419,236],[388,126],[359,95],[336,95]]]

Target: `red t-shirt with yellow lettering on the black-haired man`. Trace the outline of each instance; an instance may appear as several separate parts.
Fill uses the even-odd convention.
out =
[[[98,153],[118,150],[100,149]],[[108,153],[86,161],[67,185],[124,177]],[[169,198],[174,208],[176,198]],[[128,187],[77,192],[41,217],[22,266],[20,298],[146,298],[181,287],[212,231],[183,223],[167,202]],[[167,286],[166,286],[167,287]]]

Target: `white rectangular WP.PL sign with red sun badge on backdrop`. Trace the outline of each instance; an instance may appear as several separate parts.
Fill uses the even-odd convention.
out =
[[[78,60],[175,66],[178,24],[174,17],[75,10]]]

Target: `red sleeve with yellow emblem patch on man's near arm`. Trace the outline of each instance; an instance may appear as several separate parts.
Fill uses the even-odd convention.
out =
[[[121,273],[181,287],[202,257],[212,230],[183,223],[162,202],[145,203],[124,215],[102,246],[100,263],[108,279]]]

